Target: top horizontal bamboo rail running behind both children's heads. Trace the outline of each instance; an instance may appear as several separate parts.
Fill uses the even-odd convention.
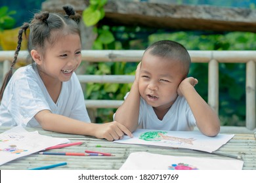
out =
[[[82,50],[82,60],[89,62],[125,61],[139,62],[144,50]],[[208,63],[216,59],[219,63],[246,63],[248,60],[256,61],[254,50],[243,51],[206,51],[188,50],[192,62]],[[14,50],[0,51],[0,62],[5,59],[12,60]],[[18,54],[18,61],[26,60],[28,52],[21,50]]]

